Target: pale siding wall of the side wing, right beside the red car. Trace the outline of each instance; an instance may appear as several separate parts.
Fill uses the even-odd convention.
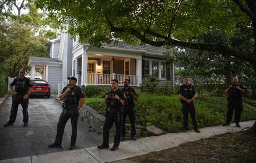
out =
[[[48,66],[48,83],[51,87],[51,92],[58,92],[59,82],[62,82],[62,67]]]

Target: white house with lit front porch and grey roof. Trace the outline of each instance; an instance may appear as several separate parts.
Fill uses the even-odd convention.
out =
[[[78,85],[111,85],[111,79],[122,84],[130,79],[130,85],[140,87],[142,79],[151,74],[160,84],[174,84],[174,65],[165,60],[164,47],[127,45],[124,42],[103,44],[103,48],[80,44],[79,38],[71,39],[62,33],[61,38],[48,42],[49,57],[30,57],[31,78],[35,68],[43,68],[43,79],[52,91],[61,90],[68,76],[76,76]]]

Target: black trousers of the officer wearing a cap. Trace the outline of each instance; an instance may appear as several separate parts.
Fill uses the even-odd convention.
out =
[[[57,125],[57,135],[55,138],[55,144],[61,144],[62,138],[64,134],[64,129],[66,126],[67,121],[71,119],[71,125],[72,125],[72,135],[71,135],[71,141],[70,145],[75,145],[77,141],[77,122],[79,119],[79,111],[77,109],[77,106],[64,109],[61,113],[61,116],[59,116],[59,122]]]

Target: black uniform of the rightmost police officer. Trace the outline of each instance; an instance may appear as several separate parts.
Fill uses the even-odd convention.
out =
[[[232,87],[228,91],[228,112],[226,114],[226,124],[229,124],[231,122],[234,110],[235,110],[234,121],[236,123],[239,123],[239,121],[241,119],[242,92],[240,90],[236,89],[236,86],[239,86],[241,89],[244,89],[245,93],[247,93],[247,89],[242,84],[231,84],[231,86]]]

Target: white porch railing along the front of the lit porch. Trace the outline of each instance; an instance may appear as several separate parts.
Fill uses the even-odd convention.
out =
[[[87,74],[87,85],[111,85],[111,80],[117,79],[119,85],[123,84],[124,79],[130,80],[131,86],[138,86],[137,75],[126,75],[126,74]]]

